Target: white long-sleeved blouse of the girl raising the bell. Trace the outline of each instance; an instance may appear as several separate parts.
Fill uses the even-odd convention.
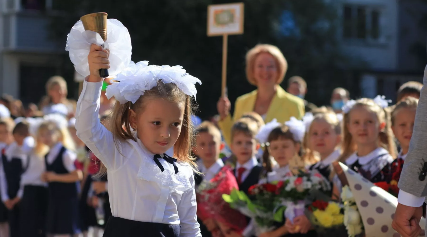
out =
[[[108,170],[108,194],[114,217],[181,225],[180,236],[201,237],[196,217],[193,170],[187,163],[154,162],[154,154],[139,139],[116,140],[98,118],[102,81],[83,82],[77,102],[77,136]],[[120,150],[119,150],[120,149]]]

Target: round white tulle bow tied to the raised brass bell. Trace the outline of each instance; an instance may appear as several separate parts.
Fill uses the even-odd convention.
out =
[[[107,40],[104,42],[97,32],[85,31],[82,21],[79,20],[67,36],[65,50],[70,52],[70,60],[80,75],[84,77],[90,75],[88,55],[93,43],[104,45],[105,49],[110,50],[109,77],[114,77],[129,65],[132,55],[131,37],[128,29],[120,21],[107,20]]]

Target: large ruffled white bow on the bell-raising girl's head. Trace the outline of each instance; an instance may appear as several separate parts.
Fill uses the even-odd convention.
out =
[[[107,87],[105,95],[107,98],[114,98],[124,104],[127,101],[135,103],[146,90],[151,90],[157,86],[157,81],[163,83],[176,84],[186,95],[196,98],[196,83],[202,82],[185,72],[182,66],[157,66],[149,65],[148,61],[140,61],[136,64],[131,61],[114,79],[118,82],[112,82]]]

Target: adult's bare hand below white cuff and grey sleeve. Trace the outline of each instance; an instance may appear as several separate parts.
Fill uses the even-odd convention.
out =
[[[421,233],[420,220],[423,215],[423,207],[410,207],[398,203],[392,228],[403,237],[415,237]]]

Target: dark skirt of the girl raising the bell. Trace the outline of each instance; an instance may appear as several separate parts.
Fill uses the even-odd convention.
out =
[[[180,225],[149,223],[110,217],[103,237],[179,237]]]

